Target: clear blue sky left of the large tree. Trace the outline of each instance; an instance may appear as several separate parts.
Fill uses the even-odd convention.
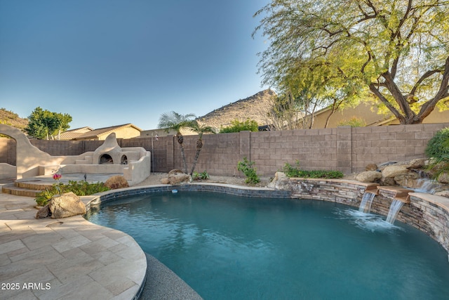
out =
[[[205,115],[260,86],[251,33],[269,0],[0,0],[0,107],[71,128]]]

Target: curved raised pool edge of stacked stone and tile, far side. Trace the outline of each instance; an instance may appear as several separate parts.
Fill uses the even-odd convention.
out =
[[[219,183],[192,183],[187,185],[154,185],[140,188],[125,188],[99,193],[89,204],[95,206],[101,202],[119,197],[142,195],[145,193],[170,192],[171,190],[192,190],[201,192],[228,193],[244,197],[279,197],[324,200],[358,207],[363,193],[373,183],[361,183],[342,179],[304,179],[290,178],[292,192],[271,190],[269,188],[250,188]],[[371,211],[387,216],[393,195],[377,195]],[[410,193],[410,204],[404,204],[397,216],[398,221],[418,228],[439,242],[449,252],[449,199],[425,193]]]

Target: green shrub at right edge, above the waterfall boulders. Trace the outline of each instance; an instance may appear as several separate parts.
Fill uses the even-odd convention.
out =
[[[441,174],[449,172],[449,127],[435,133],[427,143],[425,153],[431,158],[428,169],[432,178],[438,179]]]

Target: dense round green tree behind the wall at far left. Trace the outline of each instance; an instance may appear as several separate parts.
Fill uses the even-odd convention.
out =
[[[49,137],[54,139],[55,135],[59,136],[61,131],[69,129],[69,123],[72,122],[72,117],[68,114],[43,110],[41,107],[36,107],[28,119],[25,132],[34,138],[47,140]]]

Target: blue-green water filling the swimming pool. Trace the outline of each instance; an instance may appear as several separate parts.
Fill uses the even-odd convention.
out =
[[[449,299],[440,244],[342,204],[180,191],[86,218],[133,236],[204,299]]]

